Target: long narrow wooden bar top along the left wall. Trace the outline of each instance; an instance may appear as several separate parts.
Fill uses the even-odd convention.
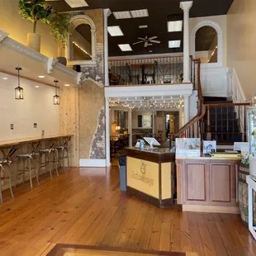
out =
[[[40,141],[40,140],[52,140],[52,139],[66,138],[66,137],[72,137],[72,136],[73,135],[59,134],[59,135],[27,137],[27,138],[22,138],[17,140],[0,140],[0,147],[8,147],[12,145],[21,145],[21,144],[31,143],[35,141]]]

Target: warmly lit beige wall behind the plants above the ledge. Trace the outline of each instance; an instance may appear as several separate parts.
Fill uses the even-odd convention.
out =
[[[26,45],[26,35],[33,31],[31,21],[22,19],[19,11],[19,0],[0,0],[0,29],[9,33],[9,36]],[[57,43],[55,38],[50,35],[48,25],[39,22],[37,33],[41,35],[41,50],[43,55],[49,57],[57,56]]]

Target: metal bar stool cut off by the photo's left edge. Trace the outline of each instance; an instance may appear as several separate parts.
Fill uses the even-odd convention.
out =
[[[3,159],[0,160],[0,202],[2,203],[2,180],[8,180],[9,181],[9,187],[12,197],[12,175],[11,175],[11,156],[14,154],[17,150],[16,146],[12,146],[11,149],[7,149],[8,153],[5,152],[6,149],[1,149],[3,154]],[[7,168],[3,168],[3,166],[7,166]],[[7,177],[4,177],[4,171],[7,170]]]

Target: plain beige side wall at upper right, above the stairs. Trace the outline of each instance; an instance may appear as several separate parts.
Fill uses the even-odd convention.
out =
[[[255,17],[255,0],[234,0],[227,15],[227,62],[230,68],[235,67],[247,98],[256,94]]]

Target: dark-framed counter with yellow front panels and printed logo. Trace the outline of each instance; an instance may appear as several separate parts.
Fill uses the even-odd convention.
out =
[[[155,206],[173,205],[174,161],[169,149],[126,149],[127,192]]]

